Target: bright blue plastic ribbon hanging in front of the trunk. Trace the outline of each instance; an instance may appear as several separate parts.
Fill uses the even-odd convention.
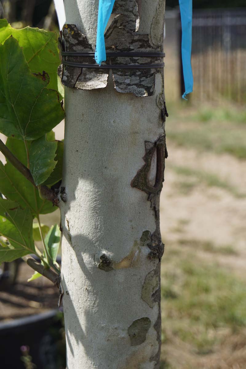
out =
[[[98,21],[97,21],[97,41],[95,59],[97,64],[106,60],[104,31],[113,10],[115,0],[99,0]]]

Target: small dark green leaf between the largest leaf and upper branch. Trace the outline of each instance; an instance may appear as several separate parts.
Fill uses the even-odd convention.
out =
[[[55,168],[56,149],[57,142],[47,141],[45,135],[32,141],[29,151],[30,171],[36,186],[45,182]]]

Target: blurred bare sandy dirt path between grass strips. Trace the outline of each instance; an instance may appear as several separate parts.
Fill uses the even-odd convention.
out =
[[[245,162],[226,154],[198,153],[171,143],[168,149],[160,201],[161,231],[166,247],[174,241],[226,246],[235,250],[236,255],[212,254],[212,257],[245,272],[246,197],[235,196],[230,187],[208,186],[203,180],[197,183],[192,173],[183,175],[173,170],[173,167],[189,167],[199,173],[212,173],[222,184],[225,181],[243,194],[246,192]]]

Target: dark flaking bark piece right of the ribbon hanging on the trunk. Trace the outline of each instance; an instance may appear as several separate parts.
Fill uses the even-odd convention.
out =
[[[160,47],[149,42],[149,35],[136,35],[139,27],[138,4],[136,0],[116,0],[113,13],[118,14],[105,33],[107,51],[160,51]],[[154,64],[161,58],[110,58],[112,64]],[[120,93],[133,93],[135,96],[155,94],[155,69],[113,70],[115,89]]]

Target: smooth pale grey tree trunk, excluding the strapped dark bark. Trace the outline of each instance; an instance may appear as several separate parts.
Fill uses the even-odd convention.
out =
[[[137,3],[136,35],[149,35],[161,51],[164,0]],[[65,0],[65,8],[67,23],[95,45],[98,1]],[[67,369],[159,368],[163,107],[160,69],[148,97],[115,91],[112,70],[105,88],[65,89],[60,209]]]

